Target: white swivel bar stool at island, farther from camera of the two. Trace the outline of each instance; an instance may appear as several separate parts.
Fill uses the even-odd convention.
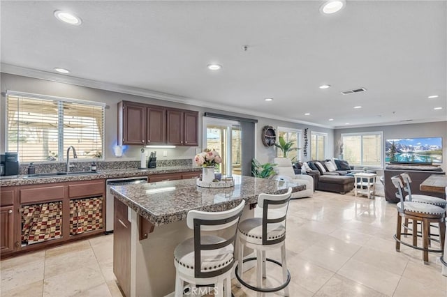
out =
[[[238,263],[235,268],[237,280],[251,290],[261,293],[269,293],[284,289],[288,294],[288,283],[291,281],[291,274],[286,265],[286,215],[288,202],[291,199],[292,188],[279,195],[260,194],[258,205],[263,212],[262,218],[249,218],[240,222],[237,232],[239,254]],[[256,250],[256,257],[244,258],[244,247]],[[265,252],[269,250],[281,249],[281,263],[274,259],[265,257]],[[242,279],[244,271],[243,264],[247,261],[256,260],[256,287],[248,284]],[[265,261],[270,261],[282,267],[284,283],[274,288],[263,288],[262,278],[267,277]]]

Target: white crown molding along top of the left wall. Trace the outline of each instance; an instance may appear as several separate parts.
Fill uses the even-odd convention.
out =
[[[198,107],[212,108],[212,109],[217,109],[217,110],[221,110],[221,111],[225,111],[225,112],[235,112],[237,114],[245,114],[238,107],[229,107],[229,106],[223,107],[223,105],[209,103],[209,102],[196,100],[193,98],[187,98],[187,97],[183,97],[183,96],[177,96],[177,95],[173,95],[170,93],[161,93],[161,92],[157,92],[157,91],[150,91],[147,89],[140,89],[140,88],[135,88],[133,86],[125,86],[125,85],[121,85],[121,84],[110,84],[108,82],[100,82],[100,81],[96,81],[93,79],[84,79],[84,78],[80,78],[80,77],[73,77],[70,75],[61,75],[58,73],[50,73],[50,72],[43,71],[43,70],[36,70],[36,69],[25,68],[25,67],[21,67],[21,66],[14,66],[14,65],[6,64],[6,63],[1,63],[0,66],[1,66],[2,73],[8,73],[11,75],[21,75],[24,77],[33,77],[33,78],[37,78],[37,79],[50,80],[52,82],[61,82],[64,84],[74,84],[76,86],[85,86],[85,87],[93,88],[93,89],[101,89],[101,90],[105,90],[105,91],[125,93],[125,94],[129,94],[129,95],[134,95],[134,96],[141,96],[141,97],[165,100],[165,101],[170,101],[170,102],[177,102],[177,103],[182,103],[182,104],[186,104],[186,105],[194,105],[194,106],[198,106]],[[249,116],[259,116],[259,117],[266,118],[266,119],[275,119],[278,121],[288,121],[291,123],[300,123],[303,125],[313,125],[315,127],[333,129],[333,127],[329,126],[329,125],[321,125],[318,123],[311,123],[311,122],[307,122],[307,121],[298,121],[296,119],[287,119],[282,116],[267,114],[267,113],[263,113],[263,112],[256,112],[254,114],[249,114]]]

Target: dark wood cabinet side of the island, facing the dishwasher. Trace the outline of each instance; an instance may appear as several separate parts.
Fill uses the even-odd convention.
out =
[[[125,296],[131,296],[131,222],[127,206],[114,198],[113,273]]]

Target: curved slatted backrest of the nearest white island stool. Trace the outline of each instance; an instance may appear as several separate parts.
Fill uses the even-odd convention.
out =
[[[237,234],[237,224],[240,216],[244,210],[245,201],[242,200],[238,206],[228,211],[206,212],[206,211],[189,211],[186,217],[186,225],[193,229],[194,233],[194,277],[205,278],[221,275],[233,268],[234,257],[231,263],[223,266],[217,271],[202,271],[201,254],[205,250],[219,250],[228,245],[233,245],[233,254],[235,239]],[[220,231],[233,227],[233,230],[228,231],[226,238],[222,238],[219,243],[205,244],[202,242],[204,231]],[[220,235],[220,233],[219,233]]]

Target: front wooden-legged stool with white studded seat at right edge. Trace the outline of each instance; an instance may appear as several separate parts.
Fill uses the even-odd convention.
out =
[[[443,252],[444,250],[444,237],[446,232],[446,211],[445,209],[432,205],[425,204],[414,201],[404,201],[403,188],[404,185],[399,176],[393,176],[391,178],[393,185],[397,188],[396,197],[400,199],[397,203],[397,230],[396,234],[393,236],[396,241],[396,251],[400,251],[400,244],[415,248],[417,250],[423,251],[424,264],[428,264],[428,252]],[[413,220],[413,234],[408,234],[406,232],[402,233],[402,218]],[[418,247],[418,232],[417,223],[420,222],[423,238],[423,248]],[[441,237],[440,250],[429,249],[429,229],[430,223],[439,224],[439,236]],[[406,243],[401,240],[401,235],[413,235],[413,244]]]

